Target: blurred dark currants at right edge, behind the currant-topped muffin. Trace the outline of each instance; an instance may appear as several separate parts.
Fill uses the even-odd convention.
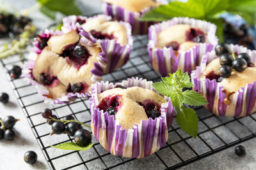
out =
[[[237,29],[232,24],[225,22],[225,27],[223,29],[223,32],[225,34],[225,40],[228,43],[243,45],[247,48],[254,50],[254,38],[248,33],[248,29],[250,29],[250,26],[248,24],[242,24],[240,25],[239,29]]]

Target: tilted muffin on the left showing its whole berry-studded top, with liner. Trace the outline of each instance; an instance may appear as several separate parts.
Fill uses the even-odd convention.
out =
[[[72,97],[86,97],[91,85],[102,79],[106,60],[100,56],[101,46],[82,41],[77,30],[46,30],[36,39],[35,48],[29,55],[26,77],[45,101],[64,103]]]

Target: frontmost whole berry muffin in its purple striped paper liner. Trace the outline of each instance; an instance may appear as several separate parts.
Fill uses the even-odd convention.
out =
[[[108,152],[143,158],[168,139],[174,108],[152,88],[152,81],[131,78],[122,83],[95,83],[90,98],[92,132]]]

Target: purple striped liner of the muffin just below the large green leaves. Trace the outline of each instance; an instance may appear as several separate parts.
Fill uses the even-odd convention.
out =
[[[207,32],[207,43],[199,43],[199,45],[191,47],[186,52],[179,52],[178,56],[173,51],[172,47],[166,48],[164,46],[163,48],[157,48],[157,34],[163,31],[163,29],[177,24],[189,24]],[[174,73],[179,68],[182,69],[182,72],[188,72],[190,74],[191,71],[200,64],[202,55],[210,52],[214,45],[218,43],[215,32],[216,25],[188,17],[175,17],[172,18],[172,20],[151,25],[148,28],[148,54],[150,64],[155,71],[163,76],[168,76],[169,73]]]

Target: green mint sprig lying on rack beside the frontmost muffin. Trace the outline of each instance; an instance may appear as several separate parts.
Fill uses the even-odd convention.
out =
[[[192,90],[182,91],[183,88],[193,87],[188,73],[182,73],[181,69],[176,73],[170,74],[169,77],[161,78],[162,81],[153,83],[154,89],[163,94],[164,96],[170,97],[172,105],[177,113],[177,123],[182,129],[193,138],[196,138],[198,133],[198,118],[195,110],[191,108],[185,108],[184,104],[190,106],[201,106],[207,104],[207,101],[203,96]]]

